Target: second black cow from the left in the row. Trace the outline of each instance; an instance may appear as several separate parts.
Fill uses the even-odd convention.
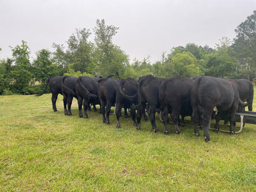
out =
[[[78,98],[76,95],[76,81],[77,77],[74,76],[64,76],[62,79],[62,95],[63,95],[63,105],[65,115],[72,115],[71,104],[73,97]],[[66,105],[68,104],[68,110],[66,110]]]

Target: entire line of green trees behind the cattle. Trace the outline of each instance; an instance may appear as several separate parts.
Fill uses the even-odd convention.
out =
[[[194,43],[173,47],[158,62],[150,63],[150,57],[130,62],[129,55],[113,43],[119,28],[98,19],[93,28],[93,42],[89,41],[92,35],[89,29],[76,29],[66,45],[53,43],[54,51],[39,50],[32,61],[26,41],[10,47],[12,58],[0,60],[0,94],[36,94],[42,92],[47,78],[63,75],[118,74],[118,78],[138,79],[153,73],[161,78],[200,75],[252,80],[256,74],[255,26],[256,10],[235,29],[233,40],[223,37],[214,49]]]

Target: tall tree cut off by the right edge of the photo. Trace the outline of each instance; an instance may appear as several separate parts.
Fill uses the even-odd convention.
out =
[[[239,73],[252,80],[256,73],[256,10],[236,30],[234,50],[239,61]]]

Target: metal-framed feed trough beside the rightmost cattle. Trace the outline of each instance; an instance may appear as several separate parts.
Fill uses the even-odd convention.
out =
[[[236,134],[239,134],[242,132],[242,127],[244,124],[249,123],[249,124],[256,124],[256,112],[254,111],[244,111],[242,113],[236,113],[236,122],[240,122],[240,129],[238,132],[235,132]],[[212,128],[209,128],[209,130],[215,130]],[[230,133],[229,130],[220,130],[220,132],[226,132]]]

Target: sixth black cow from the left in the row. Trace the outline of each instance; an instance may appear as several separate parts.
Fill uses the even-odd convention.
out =
[[[141,129],[140,120],[142,114],[146,112],[150,118],[151,126],[154,132],[158,132],[156,127],[155,113],[159,111],[159,86],[164,81],[163,78],[154,78],[153,76],[145,76],[138,82],[138,105],[132,106],[137,110],[137,129]],[[134,110],[133,109],[133,110]]]

